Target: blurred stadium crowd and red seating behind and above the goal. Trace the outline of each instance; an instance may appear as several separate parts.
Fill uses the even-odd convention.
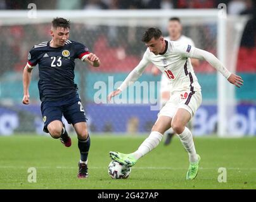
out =
[[[26,3],[27,2],[27,3]],[[50,4],[45,4],[41,0],[13,0],[4,1],[0,0],[1,9],[27,9],[26,6],[29,3],[37,4],[37,9],[143,9],[143,8],[217,8],[217,4],[226,3],[227,11],[231,14],[252,14],[250,20],[248,20],[245,31],[241,38],[241,47],[238,54],[238,71],[256,71],[256,11],[253,6],[252,0],[233,0],[233,1],[205,1],[205,0],[54,0]],[[189,28],[188,28],[189,29]],[[212,36],[210,33],[215,33],[210,27],[196,27],[196,36],[200,35],[200,41],[196,42],[196,46],[202,49],[206,49],[210,52],[216,53],[215,39],[216,36]],[[215,29],[215,28],[214,28]],[[184,27],[184,34],[189,30]],[[195,29],[194,29],[195,31]],[[46,24],[38,25],[14,25],[0,27],[1,39],[0,39],[0,54],[3,56],[1,63],[2,66],[8,67],[10,65],[16,71],[21,71],[23,65],[27,60],[27,51],[32,45],[37,42],[48,40],[49,26]],[[84,39],[83,33],[86,33],[87,39]],[[107,33],[107,34],[102,34]],[[143,46],[136,40],[143,33],[143,28],[136,28],[136,30],[130,34],[129,30],[125,27],[104,27],[99,26],[96,28],[88,28],[84,24],[75,24],[72,26],[72,39],[82,40],[91,51],[98,54],[103,60],[103,66],[101,71],[130,71],[139,62],[141,52],[144,51]],[[164,34],[167,34],[165,32]],[[36,39],[34,36],[37,36]],[[132,35],[135,35],[132,39]],[[189,34],[188,34],[189,35]],[[5,36],[5,37],[4,37]],[[198,38],[198,37],[197,37]],[[129,42],[129,43],[127,43]],[[201,43],[201,44],[200,44]],[[203,44],[207,44],[207,47],[203,47]],[[103,51],[105,50],[105,51]],[[131,51],[132,50],[132,51]],[[10,64],[10,56],[13,55]],[[253,55],[248,59],[248,55]],[[106,60],[106,61],[105,61]],[[122,62],[121,62],[122,61]],[[118,65],[117,65],[118,64]],[[128,64],[128,65],[127,65]],[[124,68],[127,67],[127,68]],[[115,69],[113,69],[115,67]],[[201,65],[198,71],[212,71],[212,68],[205,68],[205,64]],[[1,68],[1,74],[6,71],[6,68]]]

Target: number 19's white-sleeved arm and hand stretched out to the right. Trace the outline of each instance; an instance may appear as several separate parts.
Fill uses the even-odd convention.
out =
[[[222,75],[227,78],[227,81],[229,81],[229,83],[232,83],[238,88],[243,85],[243,80],[241,76],[229,72],[221,63],[221,61],[219,61],[219,59],[214,56],[214,54],[202,49],[195,48],[192,58],[201,59],[209,62],[215,69],[217,69],[217,71],[221,72]]]

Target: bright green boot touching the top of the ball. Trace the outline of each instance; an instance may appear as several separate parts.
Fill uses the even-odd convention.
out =
[[[134,158],[134,155],[131,153],[125,154],[117,151],[110,151],[110,158],[127,167],[132,167],[137,162],[136,158]]]

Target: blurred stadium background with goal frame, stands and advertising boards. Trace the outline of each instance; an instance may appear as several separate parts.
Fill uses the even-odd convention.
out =
[[[37,7],[36,18],[27,15],[30,3]],[[217,18],[220,3],[227,6],[227,18],[221,21]],[[80,61],[75,69],[91,134],[150,131],[158,113],[150,110],[150,97],[146,98],[148,104],[96,104],[94,95],[98,89],[94,84],[105,81],[113,85],[123,81],[146,49],[140,40],[144,30],[159,27],[167,35],[169,18],[178,16],[184,35],[191,37],[196,47],[219,56],[228,69],[236,71],[245,81],[241,89],[234,90],[226,86],[227,82],[222,85],[214,68],[207,62],[200,62],[195,72],[202,85],[203,104],[193,119],[193,134],[218,134],[218,124],[226,116],[226,135],[256,135],[256,12],[253,1],[54,0],[45,3],[0,0],[0,9],[0,136],[43,134],[38,69],[34,68],[32,74],[28,106],[22,105],[22,71],[32,46],[51,39],[49,30],[53,16],[69,18],[72,21],[70,40],[82,42],[101,59],[99,69],[85,67]],[[221,25],[223,21],[225,24]],[[109,76],[113,76],[110,83]],[[139,81],[157,84],[160,75],[153,76],[149,67]],[[150,95],[158,97],[158,91]],[[144,98],[143,93],[141,98]],[[217,115],[218,109],[224,110],[221,118]]]

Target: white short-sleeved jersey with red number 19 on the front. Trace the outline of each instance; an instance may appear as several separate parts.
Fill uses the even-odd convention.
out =
[[[201,91],[189,59],[193,56],[195,47],[179,41],[165,40],[165,43],[165,51],[157,56],[147,49],[141,63],[151,62],[162,71],[170,82],[170,93],[184,90]]]

